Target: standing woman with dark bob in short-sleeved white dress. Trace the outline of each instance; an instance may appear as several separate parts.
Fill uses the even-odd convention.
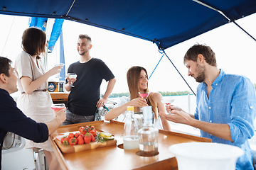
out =
[[[48,72],[43,67],[41,57],[46,55],[46,33],[38,28],[27,28],[22,35],[23,51],[16,57],[14,68],[18,74],[18,108],[38,123],[53,120],[53,101],[48,93],[48,78],[60,72],[62,66],[53,67]],[[40,57],[41,56],[41,57]],[[58,170],[57,157],[50,145],[50,138],[43,143],[26,140],[26,148],[43,149],[49,169]]]

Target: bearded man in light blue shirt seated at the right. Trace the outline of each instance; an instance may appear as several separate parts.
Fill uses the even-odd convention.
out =
[[[255,131],[255,86],[246,77],[225,74],[218,69],[215,53],[206,45],[193,45],[183,62],[188,76],[201,83],[197,88],[196,113],[192,115],[177,106],[166,106],[173,115],[159,115],[174,123],[198,128],[202,137],[213,142],[240,147],[245,154],[238,159],[236,169],[253,170],[248,139]]]

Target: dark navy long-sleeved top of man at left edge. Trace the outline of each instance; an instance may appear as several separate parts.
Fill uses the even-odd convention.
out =
[[[7,132],[14,132],[16,135],[33,140],[33,142],[45,142],[48,140],[47,125],[45,123],[36,123],[35,120],[26,117],[17,108],[16,102],[9,93],[4,89],[0,89],[0,147],[2,147],[2,142]]]

